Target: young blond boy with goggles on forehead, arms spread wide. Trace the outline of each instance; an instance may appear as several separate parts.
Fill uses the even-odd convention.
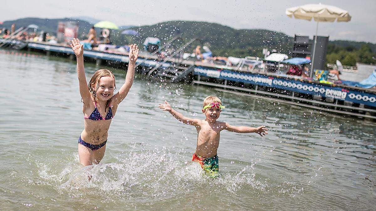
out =
[[[165,104],[160,103],[159,108],[170,112],[171,115],[180,122],[196,127],[197,146],[196,152],[194,152],[192,156],[192,161],[200,163],[203,171],[212,178],[218,176],[217,149],[219,146],[220,132],[222,130],[236,133],[258,133],[260,136],[268,134],[266,132],[268,129],[265,126],[252,128],[233,126],[226,122],[217,121],[224,106],[222,106],[221,100],[215,96],[208,96],[204,99],[202,113],[205,115],[205,120],[185,117],[172,109],[167,101],[165,101]]]

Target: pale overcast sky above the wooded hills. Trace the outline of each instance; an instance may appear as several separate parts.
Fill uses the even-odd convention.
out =
[[[321,0],[352,16],[347,23],[320,23],[318,35],[329,39],[376,43],[376,0]],[[308,0],[19,0],[3,1],[0,21],[25,17],[63,18],[88,16],[123,25],[151,25],[168,20],[194,20],[220,23],[235,29],[270,29],[294,34],[315,34],[316,22],[297,20],[285,15],[285,9]]]

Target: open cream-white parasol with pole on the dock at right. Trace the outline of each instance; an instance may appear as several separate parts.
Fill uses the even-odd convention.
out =
[[[349,12],[337,8],[331,5],[321,5],[320,4],[308,4],[303,6],[297,6],[293,8],[286,9],[286,15],[290,18],[297,18],[297,19],[304,19],[311,21],[312,18],[314,21],[317,21],[316,26],[316,37],[313,46],[313,53],[312,53],[312,66],[311,66],[311,74],[313,70],[313,62],[315,59],[315,50],[316,50],[316,42],[317,42],[317,29],[318,29],[318,22],[348,22],[351,20],[351,16]]]

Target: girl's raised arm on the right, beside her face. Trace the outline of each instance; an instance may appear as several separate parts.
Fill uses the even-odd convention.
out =
[[[135,77],[135,65],[138,58],[138,51],[138,46],[136,44],[130,46],[127,75],[125,77],[123,86],[121,86],[119,92],[113,96],[114,104],[118,105],[121,101],[123,101],[123,99],[127,96],[130,87],[132,87],[133,78]]]

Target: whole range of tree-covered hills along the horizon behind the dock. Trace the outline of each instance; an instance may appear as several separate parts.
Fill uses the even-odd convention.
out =
[[[92,24],[71,18],[42,19],[22,18],[14,21],[5,21],[0,27],[10,29],[15,23],[16,28],[36,24],[40,28],[52,34],[56,34],[59,21],[77,21],[79,24],[80,38],[88,32]],[[262,56],[262,48],[276,49],[281,53],[291,55],[293,37],[281,32],[265,29],[233,29],[217,23],[202,21],[166,21],[150,26],[132,27],[130,29],[139,32],[137,37],[121,35],[121,30],[113,32],[114,44],[126,44],[137,42],[141,44],[148,36],[158,37],[163,41],[174,36],[180,36],[186,41],[193,37],[202,40],[208,45],[215,56]],[[341,60],[344,65],[355,65],[356,62],[374,63],[372,56],[376,56],[376,44],[355,41],[329,41],[327,62],[334,63]]]

